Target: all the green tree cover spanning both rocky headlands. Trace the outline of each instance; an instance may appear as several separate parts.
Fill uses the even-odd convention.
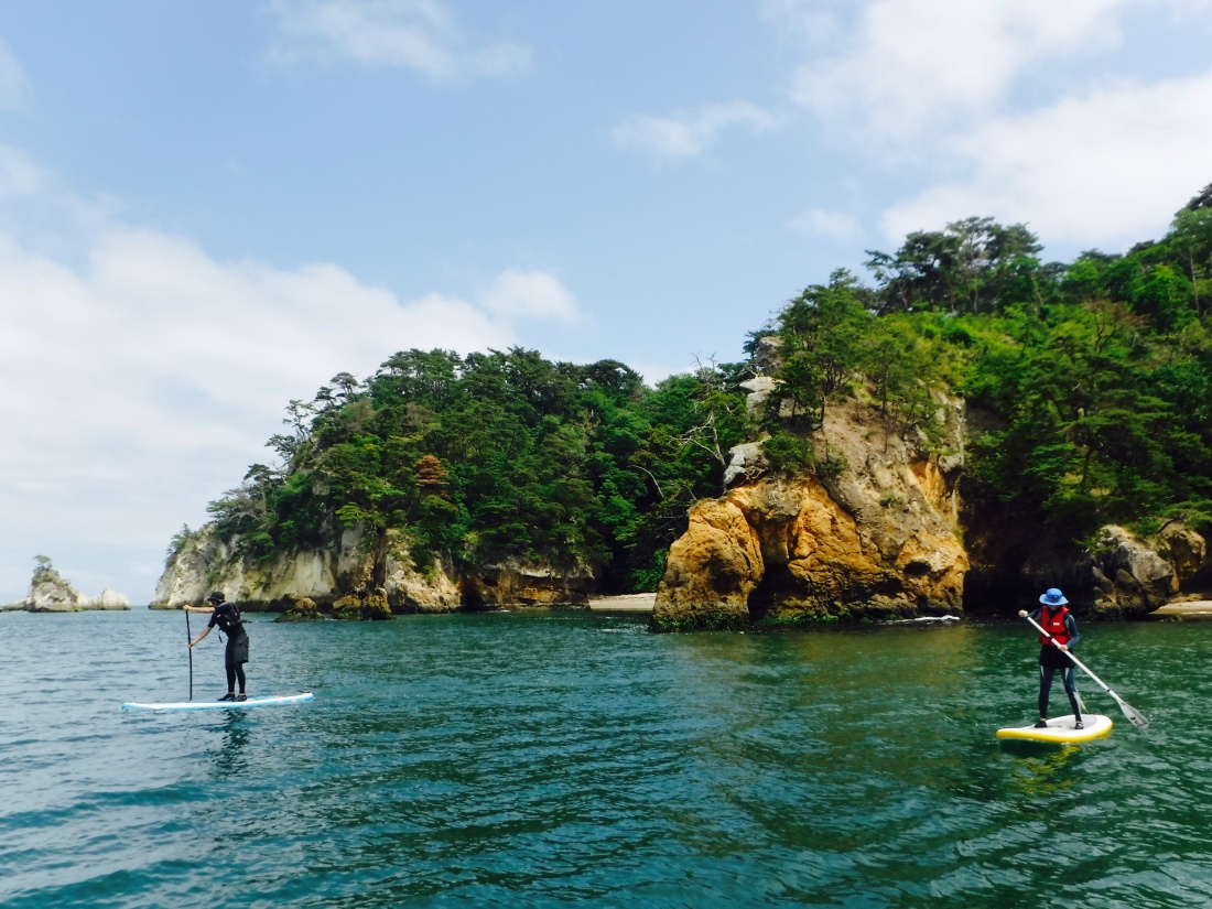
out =
[[[590,564],[614,590],[652,590],[732,446],[765,431],[776,471],[836,475],[845,461],[805,438],[829,407],[873,400],[886,431],[928,444],[944,390],[988,416],[965,498],[993,520],[1067,541],[1109,521],[1212,528],[1210,193],[1160,241],[1069,264],[990,218],[870,251],[873,287],[835,271],[750,335],[777,379],[760,427],[739,389],[756,361],[650,388],[614,360],[401,351],[291,401],[268,442],[278,463],[253,464],[208,510],[252,559],[364,526],[401,532],[422,571],[438,555]]]

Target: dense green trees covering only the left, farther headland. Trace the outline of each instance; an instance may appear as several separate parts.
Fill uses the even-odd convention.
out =
[[[713,364],[653,389],[614,360],[401,351],[291,401],[268,442],[280,465],[255,464],[210,514],[253,560],[362,526],[405,532],[419,571],[442,554],[590,564],[614,589],[652,590],[686,509],[719,492],[749,433],[743,377]]]

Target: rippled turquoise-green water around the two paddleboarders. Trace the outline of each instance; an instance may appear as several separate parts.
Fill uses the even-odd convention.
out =
[[[1212,904],[1212,624],[1087,624],[1153,726],[1087,680],[1115,730],[1060,749],[993,737],[1018,625],[644,623],[252,617],[250,691],[315,701],[131,714],[187,697],[182,613],[0,614],[0,904]]]

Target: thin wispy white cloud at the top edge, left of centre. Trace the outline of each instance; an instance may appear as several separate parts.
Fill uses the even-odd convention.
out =
[[[526,45],[469,46],[440,0],[274,0],[270,8],[279,27],[271,56],[282,62],[344,58],[406,67],[434,81],[531,67]]]

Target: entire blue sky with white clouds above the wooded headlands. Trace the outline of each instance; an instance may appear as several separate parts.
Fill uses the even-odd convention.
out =
[[[147,604],[398,350],[650,383],[908,231],[1052,259],[1212,182],[1212,0],[0,0],[0,602]]]

